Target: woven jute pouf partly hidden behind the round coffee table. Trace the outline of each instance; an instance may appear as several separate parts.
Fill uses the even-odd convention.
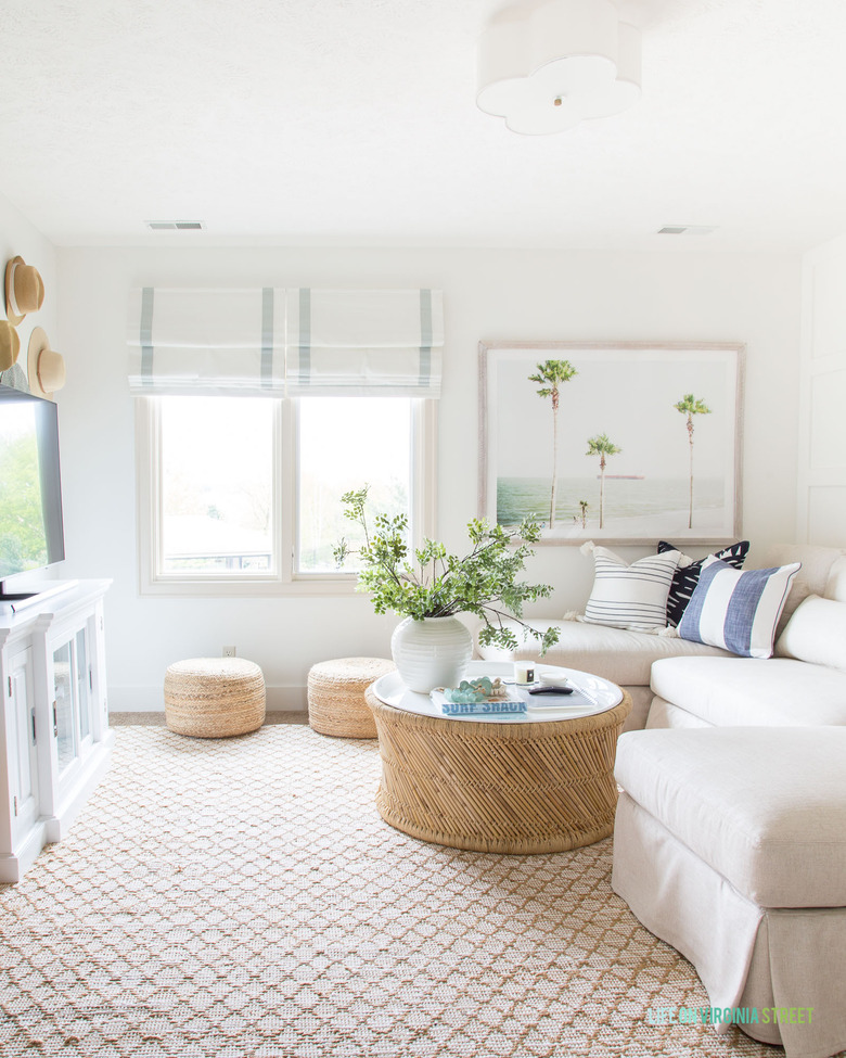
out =
[[[376,725],[364,691],[397,666],[386,658],[336,658],[308,674],[308,723],[320,735],[375,738]]]

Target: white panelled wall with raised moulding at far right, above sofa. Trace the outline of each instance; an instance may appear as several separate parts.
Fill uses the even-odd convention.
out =
[[[805,255],[797,539],[846,546],[846,237]]]

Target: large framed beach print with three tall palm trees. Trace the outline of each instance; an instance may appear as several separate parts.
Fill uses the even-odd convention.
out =
[[[479,513],[541,544],[741,535],[744,347],[482,342]]]

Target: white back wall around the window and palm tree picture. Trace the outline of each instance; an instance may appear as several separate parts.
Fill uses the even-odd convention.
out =
[[[111,706],[161,709],[167,664],[223,643],[264,668],[273,708],[303,708],[309,666],[388,652],[392,616],[364,597],[183,600],[137,589],[127,291],[137,285],[435,286],[445,294],[438,535],[462,547],[476,513],[479,340],[744,342],[744,534],[795,532],[800,260],[797,256],[475,250],[68,248],[59,251],[68,381],[61,394],[70,576],[113,577],[106,599]],[[644,549],[628,549],[630,557]],[[584,602],[591,563],[546,548],[536,612]]]

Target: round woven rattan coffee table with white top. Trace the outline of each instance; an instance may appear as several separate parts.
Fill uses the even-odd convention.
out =
[[[474,852],[563,852],[607,838],[617,804],[617,736],[631,699],[589,673],[537,667],[566,676],[584,691],[581,704],[492,722],[447,718],[397,673],[369,687],[382,818],[413,838]],[[470,675],[511,672],[505,663],[473,662]]]

